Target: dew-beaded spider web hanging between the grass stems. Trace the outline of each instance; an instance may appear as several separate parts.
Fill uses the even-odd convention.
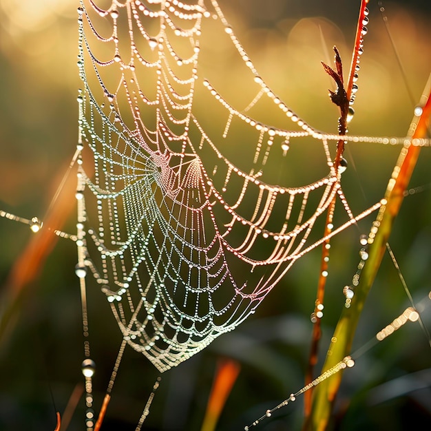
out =
[[[78,275],[91,270],[127,344],[163,372],[238,326],[328,238],[313,228],[335,198],[344,220],[329,236],[380,203],[353,215],[332,161],[339,136],[266,85],[215,0],[88,0],[78,12]],[[213,25],[245,68],[245,107],[203,75]],[[273,173],[291,169],[293,145],[325,171],[289,187]]]

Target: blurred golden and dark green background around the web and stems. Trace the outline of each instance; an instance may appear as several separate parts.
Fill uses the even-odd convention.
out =
[[[347,73],[359,1],[224,0],[220,5],[275,92],[308,123],[335,132],[337,109],[328,100],[331,84],[320,61],[332,64],[332,46],[337,45]],[[44,218],[76,147],[76,95],[81,86],[76,67],[77,6],[76,0],[0,0],[0,210],[25,218]],[[431,70],[430,2],[388,1],[384,6],[404,72],[377,1],[370,1],[352,134],[404,136]],[[238,82],[229,78],[235,76],[229,66],[227,60],[218,65],[220,82],[226,81],[227,91],[231,86],[240,92]],[[383,145],[348,146],[344,189],[355,210],[365,209],[383,196],[398,153],[399,148]],[[416,192],[406,198],[390,240],[418,302],[427,297],[431,280],[430,162],[430,150],[425,148],[411,182]],[[317,169],[314,164],[310,158],[306,168]],[[73,232],[73,179],[71,186],[68,184],[55,204],[64,210],[65,221],[59,228]],[[371,221],[344,231],[333,242],[322,359],[344,304],[342,288],[355,273],[359,234],[367,231]],[[82,381],[74,244],[58,240],[50,246],[46,259],[41,249],[36,278],[14,296],[13,281],[27,271],[32,240],[34,235],[25,225],[0,218],[3,319],[14,304],[0,344],[0,430],[53,430],[55,410],[63,412]],[[219,430],[243,429],[301,388],[311,340],[318,262],[319,250],[308,253],[253,317],[165,373],[146,429],[199,430],[215,369],[224,357],[238,361],[240,375]],[[100,403],[120,336],[104,295],[98,295],[93,287],[90,328],[92,357],[97,364],[94,385]],[[406,306],[406,293],[386,258],[359,324],[355,348],[363,346]],[[429,308],[422,317],[429,330]],[[406,326],[372,348],[344,376],[335,428],[410,430],[419,428],[420,423],[431,425],[430,366],[430,346],[419,324]],[[147,359],[127,350],[103,430],[134,430],[156,377]],[[67,430],[83,430],[83,418],[81,399]],[[297,430],[301,421],[299,400],[262,423],[260,429]],[[423,425],[420,428],[424,429]]]

